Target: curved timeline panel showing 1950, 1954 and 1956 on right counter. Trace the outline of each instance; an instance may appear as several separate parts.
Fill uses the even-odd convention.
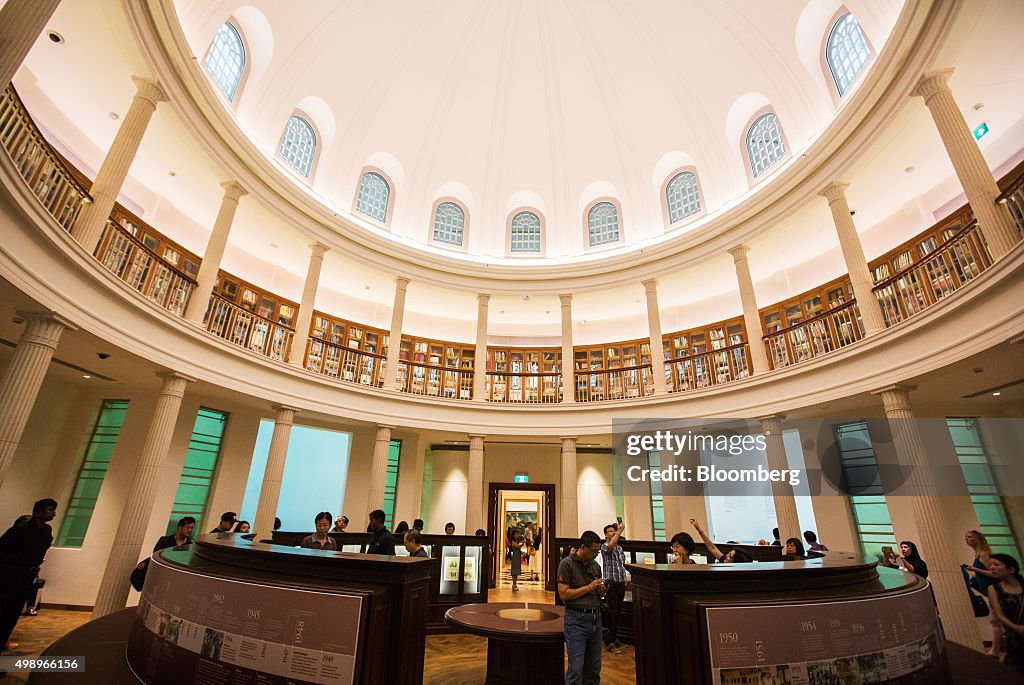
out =
[[[928,587],[828,603],[709,607],[715,685],[927,682],[943,639]]]

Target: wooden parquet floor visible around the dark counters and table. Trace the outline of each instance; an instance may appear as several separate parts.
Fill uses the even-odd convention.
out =
[[[524,584],[525,585],[525,584]],[[511,586],[492,590],[492,602],[542,602],[554,604],[554,594],[523,587],[513,593]],[[11,637],[18,647],[5,651],[5,656],[38,656],[54,640],[79,626],[88,623],[88,611],[62,611],[44,608],[38,616],[24,616]],[[444,685],[475,685],[486,675],[487,641],[473,635],[431,635],[427,637],[424,659],[426,683]],[[0,676],[0,684],[25,683],[27,674]],[[634,676],[633,647],[623,646],[622,654],[607,651],[602,655],[601,682],[607,685],[625,685],[636,682]]]

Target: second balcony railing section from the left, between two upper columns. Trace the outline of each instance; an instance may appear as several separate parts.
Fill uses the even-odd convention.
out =
[[[196,281],[145,247],[127,228],[106,222],[96,259],[128,286],[168,311],[184,315]]]

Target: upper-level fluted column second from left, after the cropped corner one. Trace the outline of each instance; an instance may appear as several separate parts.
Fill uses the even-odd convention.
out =
[[[128,114],[121,121],[121,128],[114,136],[103,164],[96,173],[96,180],[92,182],[89,195],[92,203],[82,208],[78,220],[72,226],[71,232],[83,248],[90,253],[96,250],[99,239],[103,234],[103,226],[111,218],[111,210],[117,202],[121,187],[128,177],[128,170],[138,152],[139,143],[145,129],[153,119],[153,113],[157,111],[157,105],[167,99],[163,88],[156,79],[142,76],[131,77],[135,82],[137,90],[132,98]]]

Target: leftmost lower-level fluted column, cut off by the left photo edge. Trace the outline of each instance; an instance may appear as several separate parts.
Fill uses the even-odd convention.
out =
[[[65,329],[75,330],[71,322],[51,311],[18,311],[17,315],[26,319],[25,331],[0,379],[0,484],[14,460],[60,335]]]

